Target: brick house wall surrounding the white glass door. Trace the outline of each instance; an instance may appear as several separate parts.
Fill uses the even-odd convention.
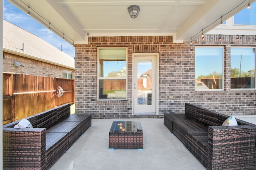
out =
[[[93,118],[132,118],[132,53],[159,53],[159,116],[184,113],[190,102],[228,115],[256,114],[255,90],[230,90],[230,47],[254,45],[254,36],[205,35],[190,44],[172,43],[172,36],[89,37],[88,44],[76,45],[76,113],[91,113]],[[195,47],[224,47],[224,90],[195,91]],[[97,101],[97,47],[128,47],[128,100]],[[172,96],[171,99],[168,97]],[[138,117],[138,116],[137,116]]]

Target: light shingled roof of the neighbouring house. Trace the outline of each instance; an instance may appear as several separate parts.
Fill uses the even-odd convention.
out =
[[[3,51],[74,69],[74,58],[38,36],[4,20]],[[22,50],[24,43],[24,50]]]

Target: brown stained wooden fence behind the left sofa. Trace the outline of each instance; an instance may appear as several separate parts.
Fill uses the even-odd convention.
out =
[[[64,90],[55,96],[56,88]],[[75,102],[73,79],[3,73],[3,125]]]

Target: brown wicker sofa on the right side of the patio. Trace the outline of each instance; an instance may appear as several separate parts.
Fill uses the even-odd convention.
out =
[[[164,125],[208,170],[255,170],[255,125],[221,126],[228,117],[186,103],[185,114],[164,114]]]

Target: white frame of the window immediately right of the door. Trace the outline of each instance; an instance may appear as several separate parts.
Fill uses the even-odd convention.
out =
[[[196,89],[196,48],[222,48],[222,88],[221,89]],[[195,91],[224,91],[224,47],[223,46],[196,46],[195,47],[195,77],[194,89]]]

